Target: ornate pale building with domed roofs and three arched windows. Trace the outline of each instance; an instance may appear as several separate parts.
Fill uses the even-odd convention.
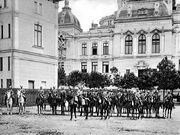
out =
[[[82,32],[66,0],[58,16],[59,34],[66,43],[59,63],[66,73],[109,73],[115,66],[121,75],[138,75],[145,68],[157,68],[164,56],[179,69],[180,5],[172,0],[117,0],[117,4],[114,14]]]

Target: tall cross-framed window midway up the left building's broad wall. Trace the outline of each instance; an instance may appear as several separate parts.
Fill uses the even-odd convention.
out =
[[[34,45],[42,47],[42,26],[34,24]]]

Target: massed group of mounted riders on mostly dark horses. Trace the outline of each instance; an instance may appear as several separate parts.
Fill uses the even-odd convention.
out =
[[[63,92],[49,92],[44,94],[39,93],[36,99],[38,114],[41,114],[46,109],[46,105],[52,109],[52,114],[57,114],[57,107],[60,106],[61,114],[65,112],[73,113],[76,118],[76,111],[79,111],[80,116],[84,113],[85,119],[88,116],[100,116],[101,119],[107,119],[115,112],[117,116],[127,116],[133,119],[143,117],[170,117],[174,102],[172,94],[168,93],[164,100],[161,100],[157,91],[155,92],[81,92],[77,94],[73,90]],[[160,109],[163,110],[163,116],[160,116]]]

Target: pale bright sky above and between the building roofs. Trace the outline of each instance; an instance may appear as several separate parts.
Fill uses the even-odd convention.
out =
[[[180,3],[180,0],[177,0]],[[113,14],[117,10],[117,0],[69,0],[72,13],[78,18],[83,31],[88,31],[91,23],[99,24],[102,17]],[[59,3],[59,12],[64,1]]]

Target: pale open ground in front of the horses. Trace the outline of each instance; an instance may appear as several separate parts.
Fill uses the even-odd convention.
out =
[[[70,121],[70,116],[37,115],[35,107],[28,107],[26,114],[18,115],[14,108],[13,115],[0,115],[1,135],[58,134],[58,135],[179,135],[180,106],[173,110],[172,119],[144,118],[132,120],[126,117],[111,117],[100,120],[99,117],[78,117]]]

